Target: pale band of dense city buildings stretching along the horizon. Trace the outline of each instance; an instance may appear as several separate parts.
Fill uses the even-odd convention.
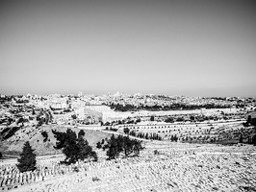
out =
[[[140,93],[128,95],[122,93],[96,95],[61,95],[51,94],[46,96],[0,95],[0,124],[10,125],[19,118],[25,119],[25,122],[37,123],[38,114],[42,111],[48,111],[53,116],[53,122],[57,124],[73,125],[77,123],[97,124],[100,121],[115,121],[129,117],[137,117],[148,120],[150,116],[166,116],[176,114],[176,111],[115,111],[113,105],[131,105],[139,106],[171,106],[175,104],[204,106],[214,104],[221,109],[246,113],[256,108],[255,98],[202,98],[202,97],[185,97],[185,96],[165,96],[165,95],[142,95]],[[235,109],[235,110],[234,110]],[[216,108],[218,110],[218,108]],[[234,111],[235,112],[234,112]],[[219,111],[218,111],[219,112]],[[183,110],[180,108],[179,113],[205,114],[205,108],[197,110]],[[231,113],[231,112],[229,112]]]

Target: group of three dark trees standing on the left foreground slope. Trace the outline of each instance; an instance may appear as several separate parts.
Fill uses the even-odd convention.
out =
[[[56,130],[52,130],[52,132],[56,138],[56,146],[54,148],[56,150],[62,150],[65,156],[64,161],[61,161],[61,163],[71,164],[86,159],[89,161],[98,160],[96,152],[92,150],[89,142],[84,139],[85,132],[83,130],[78,132],[78,134],[71,129],[67,129],[66,132],[58,132]],[[41,134],[44,139],[48,136],[45,132],[41,132]],[[122,154],[126,157],[131,155],[138,156],[143,149],[141,141],[131,139],[129,136],[115,136],[114,134],[110,139],[106,139],[106,142],[102,139],[101,142],[97,143],[96,147],[106,151],[109,160],[115,159]],[[37,159],[34,151],[30,142],[26,141],[22,148],[22,153],[18,158],[19,163],[16,165],[20,172],[34,171],[37,169]]]

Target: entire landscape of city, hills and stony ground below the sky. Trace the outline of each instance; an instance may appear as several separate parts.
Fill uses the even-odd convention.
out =
[[[130,190],[148,191],[151,187],[159,187],[160,191],[171,191],[178,186],[181,190],[218,190],[218,187],[223,187],[222,180],[225,180],[228,187],[236,187],[229,177],[220,178],[221,182],[205,182],[206,185],[200,178],[194,178],[182,185],[180,180],[185,180],[188,176],[172,175],[170,182],[167,179],[168,172],[163,168],[169,166],[172,171],[178,169],[176,171],[184,172],[192,169],[191,174],[200,173],[200,177],[214,177],[213,173],[207,170],[226,169],[225,160],[228,160],[229,164],[227,169],[232,169],[232,172],[242,174],[242,163],[251,167],[246,172],[246,177],[251,180],[241,179],[239,183],[246,183],[254,190],[255,101],[256,98],[244,97],[204,98],[141,93],[128,95],[119,92],[101,96],[83,95],[81,91],[72,95],[1,94],[2,190],[16,188],[27,191],[30,188],[37,191],[37,183],[42,182],[45,183],[45,189],[51,191],[56,190],[57,183],[63,187],[67,178],[72,177],[68,179],[70,182],[68,181],[66,189],[82,187],[86,182],[86,191],[106,188],[119,188],[122,191],[124,186],[117,186],[114,182],[109,186],[104,184],[110,178],[120,180],[116,178],[120,176],[124,177],[122,180],[126,180],[122,182],[124,185],[127,184],[128,178],[132,182],[140,180],[137,184],[132,184]],[[77,132],[78,135],[82,134],[86,139],[83,150],[88,149],[85,155],[88,157],[81,155],[82,157],[73,159],[75,155],[70,155],[67,150],[72,148],[60,146],[60,132],[66,132],[66,135],[71,135],[71,132],[74,135]],[[115,142],[129,138],[135,142],[135,147],[128,150],[124,144],[125,140],[121,140],[126,146],[124,152],[120,150],[115,154],[115,151],[112,151],[115,149],[114,144],[111,143],[115,138]],[[65,139],[67,137],[64,137]],[[32,162],[25,166],[33,172],[25,172],[27,170],[23,171],[17,164],[20,160],[17,161],[16,157],[20,156],[22,150],[24,152],[23,143],[26,141],[29,141],[29,147],[31,145],[34,148],[37,156],[34,169],[30,167]],[[129,145],[133,146],[132,143]],[[209,159],[212,162],[210,164]],[[186,161],[195,163],[196,168],[192,168]],[[169,162],[175,164],[171,165]],[[151,169],[151,166],[154,168]],[[113,170],[116,167],[117,170]],[[132,172],[127,172],[128,167]],[[18,170],[27,174],[20,175]],[[102,170],[108,170],[108,174],[102,175]],[[83,173],[89,175],[85,178]],[[157,184],[159,182],[153,173],[158,173],[161,177],[158,179],[161,180],[160,184]],[[226,173],[229,172],[226,170],[218,175],[223,177],[222,174]],[[129,177],[125,179],[127,176]],[[56,180],[52,180],[52,177],[56,177]],[[99,180],[102,180],[101,184],[98,183]],[[156,180],[156,183],[152,184],[150,180]],[[76,186],[74,181],[78,182]],[[193,185],[194,182],[202,184]],[[33,183],[35,184],[26,187],[27,184]],[[24,187],[21,187],[23,185]],[[246,187],[241,185],[239,189],[243,191]]]

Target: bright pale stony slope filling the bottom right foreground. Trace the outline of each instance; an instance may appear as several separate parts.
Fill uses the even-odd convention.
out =
[[[80,162],[74,172],[13,191],[256,191],[255,146],[153,141],[144,147],[140,156],[111,161],[98,151],[99,162]]]

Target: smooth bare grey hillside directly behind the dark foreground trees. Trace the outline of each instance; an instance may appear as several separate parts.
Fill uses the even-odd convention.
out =
[[[2,142],[0,146],[0,151],[4,154],[17,155],[22,151],[23,144],[25,141],[30,141],[31,146],[35,149],[37,155],[54,155],[60,154],[60,151],[56,151],[53,146],[56,144],[56,139],[52,133],[52,130],[58,132],[65,132],[67,128],[56,125],[47,125],[36,127],[23,127],[23,128],[13,128],[15,130],[13,136],[8,137]],[[17,131],[16,131],[17,130]],[[79,132],[78,128],[72,128],[73,131]],[[0,131],[2,132],[3,129]],[[86,132],[84,138],[88,140],[89,144],[92,147],[95,147],[98,141],[110,137],[111,134],[107,132],[97,132],[84,130]],[[9,132],[11,132],[9,130]],[[48,137],[45,139],[45,136],[41,132],[47,132]],[[7,132],[5,132],[7,133]]]

